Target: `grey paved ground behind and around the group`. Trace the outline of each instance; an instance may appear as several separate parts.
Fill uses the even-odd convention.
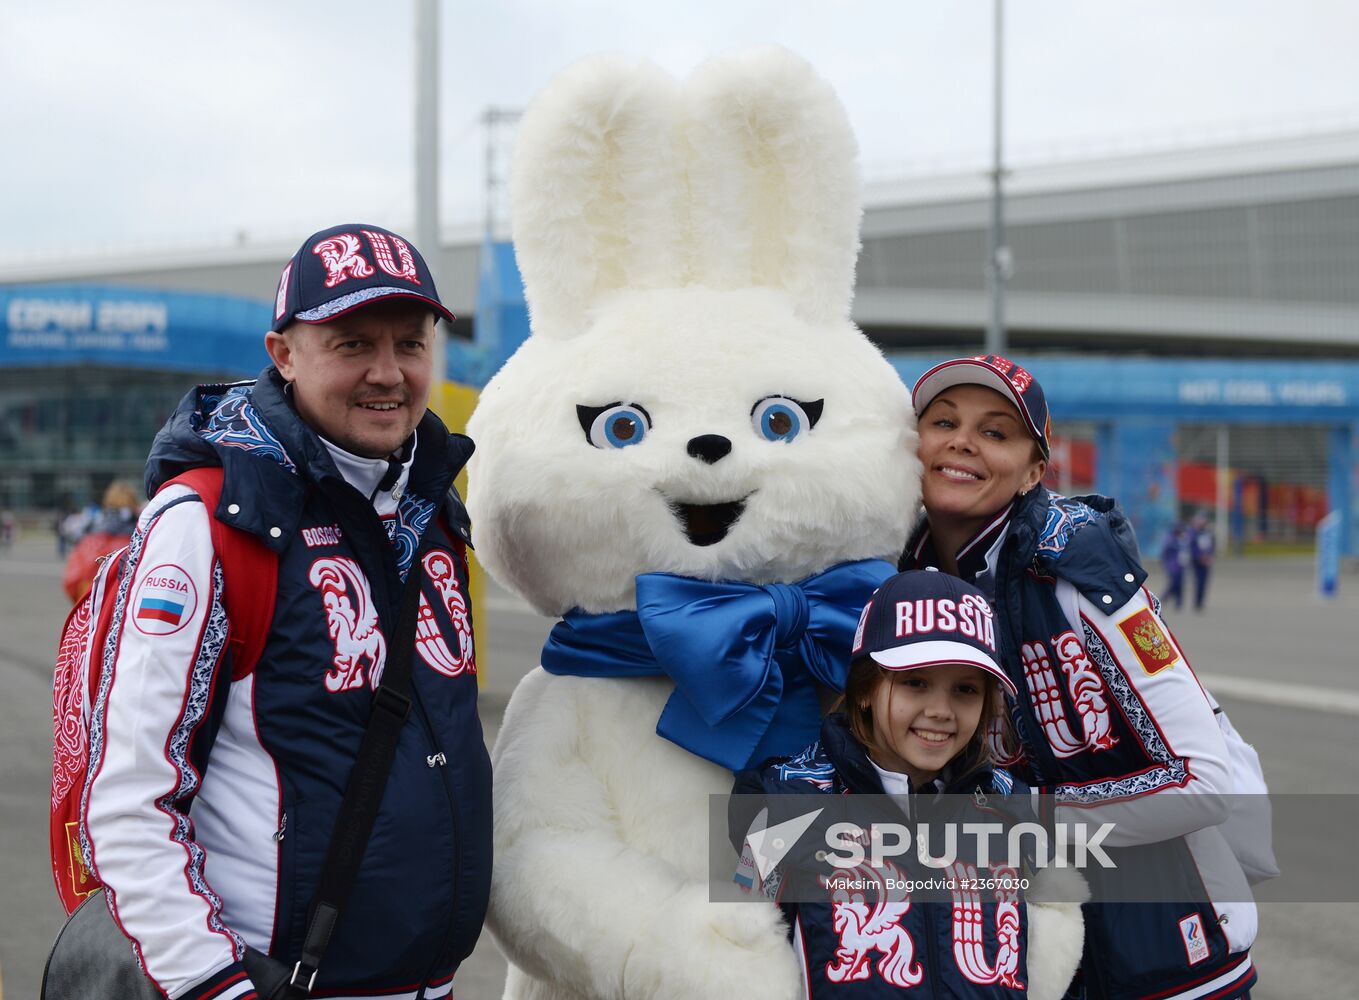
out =
[[[46,538],[20,539],[0,554],[0,966],[10,1000],[37,997],[61,925],[46,829],[52,663],[67,610],[58,577]],[[1275,791],[1359,793],[1359,576],[1343,587],[1326,603],[1314,596],[1305,560],[1226,561],[1203,614],[1167,611],[1195,666],[1260,750]],[[493,740],[549,622],[495,588],[488,603],[482,717]],[[1356,938],[1359,904],[1263,906],[1256,1000],[1354,996]],[[503,978],[504,959],[484,936],[458,974],[457,996],[499,996]]]

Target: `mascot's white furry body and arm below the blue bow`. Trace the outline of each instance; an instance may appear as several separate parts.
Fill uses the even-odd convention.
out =
[[[660,679],[541,670],[515,692],[495,750],[489,927],[515,978],[541,980],[525,996],[800,988],[772,906],[708,902],[708,795],[731,773],[655,735],[669,694]]]

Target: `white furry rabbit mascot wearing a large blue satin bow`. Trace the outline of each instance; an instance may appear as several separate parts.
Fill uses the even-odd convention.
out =
[[[802,993],[772,904],[709,902],[708,796],[817,738],[917,507],[906,389],[848,318],[855,155],[773,49],[590,60],[525,114],[533,334],[469,425],[477,553],[563,617],[495,747],[507,996]]]

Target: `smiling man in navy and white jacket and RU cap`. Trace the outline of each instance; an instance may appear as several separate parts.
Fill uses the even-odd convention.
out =
[[[477,719],[466,514],[472,442],[427,412],[424,260],[375,226],[310,236],[279,283],[253,383],[200,386],[158,435],[91,719],[87,859],[177,1000],[255,997],[246,946],[289,966],[420,580],[412,711],[314,993],[442,997],[481,929],[491,769]],[[216,511],[178,473],[222,466]],[[158,492],[159,490],[159,492]],[[234,660],[209,518],[277,554],[255,667]]]

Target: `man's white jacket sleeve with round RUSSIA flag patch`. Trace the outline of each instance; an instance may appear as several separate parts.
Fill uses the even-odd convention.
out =
[[[222,921],[189,819],[230,683],[208,518],[177,485],[133,535],[91,692],[83,836],[114,918],[169,997],[251,1000],[245,943]]]

